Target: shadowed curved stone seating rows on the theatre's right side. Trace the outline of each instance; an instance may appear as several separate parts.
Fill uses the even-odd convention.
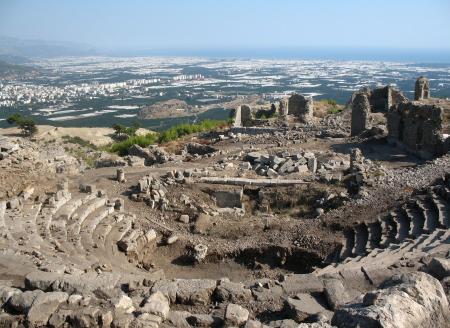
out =
[[[450,175],[371,223],[344,231],[339,259],[318,274],[387,267],[409,255],[450,250]]]

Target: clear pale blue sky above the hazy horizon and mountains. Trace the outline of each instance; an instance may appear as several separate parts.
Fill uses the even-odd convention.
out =
[[[450,0],[0,0],[0,35],[114,50],[439,51]]]

